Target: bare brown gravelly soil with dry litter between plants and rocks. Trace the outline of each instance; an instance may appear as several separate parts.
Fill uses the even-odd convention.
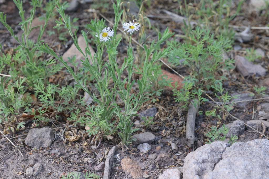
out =
[[[163,31],[167,26],[178,34],[183,34],[182,30],[180,30],[180,26],[182,24],[175,22],[173,19],[169,17],[169,15],[165,14],[162,9],[166,9],[173,13],[178,14],[176,9],[179,9],[178,2],[164,0],[164,1],[150,1],[152,4],[150,9],[146,12],[147,15],[151,15],[150,21],[151,25],[158,25],[160,31]],[[237,2],[237,1],[235,1]],[[26,1],[24,4],[25,8],[29,7],[29,2]],[[95,11],[91,10],[92,2],[85,2],[83,4],[79,4],[73,12],[69,12],[68,14],[71,18],[77,17],[79,20],[77,21],[77,25],[79,25],[80,30],[84,30],[84,25],[89,23],[93,18],[100,18],[102,14],[107,17],[109,20],[114,19],[113,9],[96,9]],[[9,7],[7,9],[6,7]],[[110,6],[112,7],[112,5]],[[12,1],[6,0],[4,3],[0,4],[1,11],[6,11],[8,14],[7,20],[8,24],[15,29],[14,33],[18,33],[20,31],[20,27],[18,23],[20,22],[19,13],[13,5]],[[231,25],[238,26],[265,26],[265,22],[268,24],[268,18],[264,19],[259,17],[259,14],[249,13],[248,11],[248,1],[245,1],[242,4],[242,12],[244,14],[240,14],[236,19],[231,21]],[[29,13],[26,10],[27,13]],[[43,12],[40,12],[43,13]],[[38,14],[37,14],[38,15]],[[167,17],[167,18],[161,18]],[[52,25],[53,27],[54,25]],[[267,31],[262,30],[251,30],[252,34],[255,35],[255,38],[247,43],[235,42],[235,45],[240,45],[243,48],[255,47],[261,48],[267,56],[263,57],[258,64],[262,64],[264,68],[268,70],[268,39],[264,39],[261,36],[268,35]],[[154,34],[153,30],[148,31],[149,34]],[[153,38],[150,36],[150,38]],[[69,41],[65,44],[60,43],[56,39],[49,38],[51,44],[58,44],[59,48],[55,48],[59,55],[62,55],[72,44],[72,41]],[[5,50],[4,53],[9,53],[12,51],[12,48],[15,47],[16,44],[12,43],[12,37],[9,32],[0,24],[0,43]],[[129,42],[121,42],[119,45],[119,53],[122,53],[119,58],[123,58],[126,54],[127,45]],[[233,58],[236,54],[240,52],[232,51],[229,52],[229,57]],[[105,54],[104,54],[105,55]],[[105,57],[104,57],[105,59]],[[169,68],[162,66],[164,70],[168,70]],[[176,69],[183,76],[188,74],[188,70],[185,68]],[[172,71],[170,71],[172,72]],[[66,71],[62,71],[59,74],[55,75],[54,82],[59,81],[63,83],[69,84],[70,82],[65,82],[66,76],[70,76]],[[236,70],[233,69],[231,74],[229,74],[229,78],[227,81],[224,81],[224,88],[229,93],[245,93],[245,92],[253,92],[253,85],[259,85],[263,79],[266,79],[268,76],[268,72],[265,76],[257,77],[255,75],[249,76],[247,78],[243,78],[242,75]],[[61,83],[62,84],[62,83]],[[94,89],[93,89],[94,90]],[[80,94],[83,94],[83,91],[79,91]],[[266,91],[268,93],[268,89]],[[209,111],[216,107],[216,104],[213,101],[209,101],[206,103],[202,103],[200,105],[199,110],[203,111],[203,114],[197,115],[195,122],[195,142],[192,147],[188,147],[187,140],[185,138],[186,132],[186,116],[187,111],[184,111],[180,108],[180,105],[174,101],[173,93],[171,90],[166,89],[162,96],[158,98],[158,101],[155,103],[151,103],[147,101],[143,104],[140,112],[145,111],[151,107],[157,108],[157,114],[154,117],[154,125],[150,125],[148,127],[142,126],[136,133],[139,134],[143,132],[151,132],[155,135],[155,140],[151,143],[151,149],[147,152],[140,152],[137,149],[137,145],[130,144],[128,149],[122,148],[120,145],[120,139],[117,135],[114,136],[112,140],[103,140],[98,147],[96,146],[99,143],[99,140],[95,140],[93,136],[89,137],[86,133],[84,126],[81,125],[73,125],[72,122],[68,121],[64,115],[60,115],[59,118],[55,118],[52,114],[48,114],[47,117],[50,118],[50,122],[45,125],[40,125],[38,127],[49,127],[53,130],[55,134],[55,138],[52,144],[49,147],[34,149],[27,146],[24,141],[26,139],[28,131],[33,128],[33,119],[27,119],[26,125],[24,129],[16,131],[15,133],[10,132],[6,126],[6,122],[2,121],[0,124],[0,130],[5,132],[5,136],[0,134],[0,179],[11,179],[11,178],[61,178],[62,175],[66,176],[69,172],[76,171],[80,172],[82,175],[86,172],[93,172],[102,178],[104,173],[104,168],[100,167],[101,162],[105,162],[106,156],[109,150],[116,145],[116,151],[114,155],[120,154],[120,158],[130,158],[133,161],[137,162],[143,171],[143,175],[145,178],[158,178],[160,174],[166,169],[172,169],[173,167],[181,168],[184,165],[185,156],[198,147],[205,144],[207,141],[207,137],[205,133],[210,130],[211,126],[222,126],[222,123],[230,123],[233,122],[234,119],[231,116],[226,116],[226,120],[220,120],[217,117],[206,116],[204,114],[205,111]],[[213,93],[209,93],[210,96],[215,99]],[[242,99],[244,100],[244,99]],[[266,100],[253,100],[248,101],[247,103],[240,106],[238,104],[234,105],[234,108],[230,111],[233,116],[236,116],[238,119],[246,122],[251,119],[258,119],[259,115],[257,112],[257,108],[263,103],[266,103]],[[134,121],[137,118],[134,118]],[[262,131],[262,128],[257,128],[258,131]],[[79,140],[69,141],[65,136],[66,131],[75,131],[77,135],[80,135]],[[268,131],[265,131],[265,136],[268,136]],[[265,136],[260,135],[256,131],[252,129],[245,128],[245,131],[238,136],[238,141],[247,142],[256,138],[266,138]],[[16,147],[10,143],[12,141]],[[174,143],[177,148],[172,148]],[[172,145],[171,145],[172,144]],[[172,165],[169,163],[165,163],[165,160],[156,160],[159,154],[168,154],[169,158],[171,158],[174,162]],[[29,167],[33,167],[40,163],[42,165],[40,172],[36,176],[27,176],[26,169]],[[169,164],[169,165],[168,165]],[[183,174],[181,174],[181,177]],[[82,177],[81,177],[82,178]],[[132,178],[129,173],[125,173],[122,169],[121,162],[117,156],[115,156],[112,164],[111,164],[111,174],[110,178]]]

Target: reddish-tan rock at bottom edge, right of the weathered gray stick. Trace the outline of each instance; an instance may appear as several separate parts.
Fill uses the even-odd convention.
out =
[[[143,170],[141,167],[130,158],[123,158],[121,160],[122,170],[126,173],[130,173],[133,178],[142,178]]]

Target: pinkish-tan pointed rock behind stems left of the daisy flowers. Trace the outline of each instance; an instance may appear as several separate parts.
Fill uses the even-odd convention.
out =
[[[83,53],[85,53],[85,48],[86,48],[86,43],[84,41],[84,38],[82,35],[80,35],[78,38],[77,38],[77,43],[79,44],[81,50]],[[91,56],[92,58],[94,58],[94,50],[93,48],[91,48],[91,46],[89,46],[89,50],[91,52]],[[76,55],[76,60],[75,60],[75,63],[77,63],[77,68],[81,68],[83,67],[82,65],[82,62],[80,61],[80,59],[82,60],[85,60],[84,56],[82,53],[79,52],[79,50],[77,50],[75,44],[73,43],[71,45],[71,47],[63,54],[63,60],[67,62],[67,64],[70,66],[70,67],[74,67],[70,62],[69,62],[69,59],[68,57],[72,58],[74,55]],[[89,57],[89,61],[90,61],[90,64],[92,65],[93,62],[91,61],[91,57]]]

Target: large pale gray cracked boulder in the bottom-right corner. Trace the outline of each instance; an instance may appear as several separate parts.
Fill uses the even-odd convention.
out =
[[[203,145],[185,158],[183,178],[269,178],[269,140]]]

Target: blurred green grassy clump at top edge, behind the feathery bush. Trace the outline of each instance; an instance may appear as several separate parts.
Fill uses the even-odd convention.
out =
[[[178,2],[182,4],[181,1]],[[179,12],[187,17],[188,21],[184,22],[182,30],[189,38],[193,28],[190,22],[195,21],[200,27],[207,29],[210,33],[213,32],[217,38],[222,35],[233,39],[235,31],[229,27],[229,22],[239,14],[243,2],[244,0],[239,1],[236,12],[231,14],[232,0],[220,0],[218,3],[211,0],[199,1],[195,6],[194,3],[187,3],[187,0],[184,0],[184,6],[180,6]]]

